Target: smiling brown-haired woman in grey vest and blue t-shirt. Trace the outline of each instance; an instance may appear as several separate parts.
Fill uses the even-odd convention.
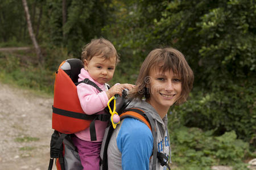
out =
[[[141,66],[136,87],[129,94],[129,108],[143,111],[155,123],[158,152],[171,157],[167,113],[173,104],[186,101],[193,84],[193,71],[182,53],[174,48],[155,49]],[[135,118],[125,118],[117,126],[108,146],[109,169],[166,169],[154,162],[151,130]]]

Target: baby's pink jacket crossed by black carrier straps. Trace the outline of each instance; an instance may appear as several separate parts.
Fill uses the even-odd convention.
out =
[[[89,78],[92,82],[96,83],[98,87],[101,88],[102,92],[98,91],[95,87],[80,83],[77,86],[77,94],[79,96],[80,104],[82,110],[86,114],[102,114],[105,113],[104,108],[108,104],[108,96],[106,95],[106,87],[105,84],[100,84],[93,80],[88,71],[85,69],[81,69],[81,73],[79,74],[79,82],[84,80],[85,78]],[[107,122],[95,121],[95,129],[96,129],[96,137],[97,141],[93,142],[101,142],[105,133],[105,129],[107,126]],[[90,141],[90,128],[79,131],[75,133],[76,136],[84,141]]]

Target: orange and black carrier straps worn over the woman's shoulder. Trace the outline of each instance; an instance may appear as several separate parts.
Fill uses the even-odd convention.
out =
[[[159,160],[160,164],[162,166],[166,165],[166,167],[168,169],[171,169],[170,166],[168,165],[168,158],[166,155],[162,154],[161,152],[158,152],[157,149],[157,145],[156,145],[156,129],[155,129],[155,122],[153,120],[153,118],[151,116],[147,116],[144,111],[142,111],[141,109],[138,108],[130,108],[125,110],[125,112],[121,113],[120,115],[121,120],[123,118],[126,117],[133,117],[136,118],[139,121],[142,121],[144,124],[146,124],[148,126],[148,128],[151,130],[152,132],[152,136],[154,139],[153,142],[153,152],[152,152],[152,156],[153,156],[153,160],[152,160],[152,169],[156,169],[156,161],[157,159]],[[102,164],[102,169],[103,170],[107,170],[108,169],[108,145],[109,145],[109,141],[110,138],[113,134],[113,127],[110,126],[108,135],[106,137],[106,141],[105,141],[105,147],[104,147],[104,154],[103,154],[103,158],[101,160],[101,164]]]

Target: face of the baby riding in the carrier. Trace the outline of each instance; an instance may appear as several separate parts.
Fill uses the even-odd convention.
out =
[[[94,56],[89,61],[85,59],[85,70],[98,83],[104,84],[109,82],[115,72],[116,57],[109,59],[100,56]]]

